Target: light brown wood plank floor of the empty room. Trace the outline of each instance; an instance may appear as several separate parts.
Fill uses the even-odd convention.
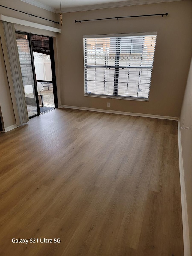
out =
[[[184,255],[176,121],[55,109],[0,134],[0,182],[0,255]]]

